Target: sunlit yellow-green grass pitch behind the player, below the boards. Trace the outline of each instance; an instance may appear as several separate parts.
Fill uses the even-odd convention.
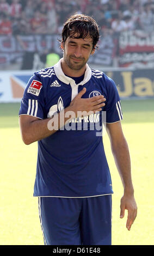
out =
[[[131,231],[126,229],[127,212],[120,219],[122,185],[116,170],[107,134],[104,147],[113,181],[113,245],[154,244],[154,100],[122,101],[123,130],[131,161],[138,216]],[[0,245],[44,245],[33,197],[37,143],[24,145],[19,130],[19,103],[0,104]]]

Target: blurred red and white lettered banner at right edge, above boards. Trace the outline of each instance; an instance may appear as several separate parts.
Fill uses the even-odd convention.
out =
[[[154,64],[154,32],[122,32],[119,37],[119,66]]]

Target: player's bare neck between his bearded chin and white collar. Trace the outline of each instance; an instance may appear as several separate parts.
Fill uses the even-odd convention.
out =
[[[61,69],[63,70],[64,74],[66,76],[71,76],[71,77],[79,77],[82,76],[86,70],[86,65],[83,66],[83,68],[79,69],[79,70],[73,70],[70,69],[69,66],[66,64],[64,58],[61,61]]]

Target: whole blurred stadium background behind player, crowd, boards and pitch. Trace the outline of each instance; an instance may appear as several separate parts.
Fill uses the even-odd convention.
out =
[[[22,143],[18,111],[33,72],[62,57],[58,39],[63,23],[74,13],[93,16],[100,27],[99,50],[89,65],[117,85],[132,156],[139,213],[129,233],[126,220],[119,221],[122,187],[107,151],[115,191],[113,244],[153,245],[153,0],[0,0],[0,244],[43,244],[32,197],[37,148]],[[109,148],[107,138],[104,141]]]

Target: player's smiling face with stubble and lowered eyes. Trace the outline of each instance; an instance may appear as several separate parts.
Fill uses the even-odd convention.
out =
[[[64,62],[72,70],[81,70],[88,62],[90,54],[95,52],[90,36],[84,39],[69,37],[65,43],[61,43],[61,48],[64,50]]]

